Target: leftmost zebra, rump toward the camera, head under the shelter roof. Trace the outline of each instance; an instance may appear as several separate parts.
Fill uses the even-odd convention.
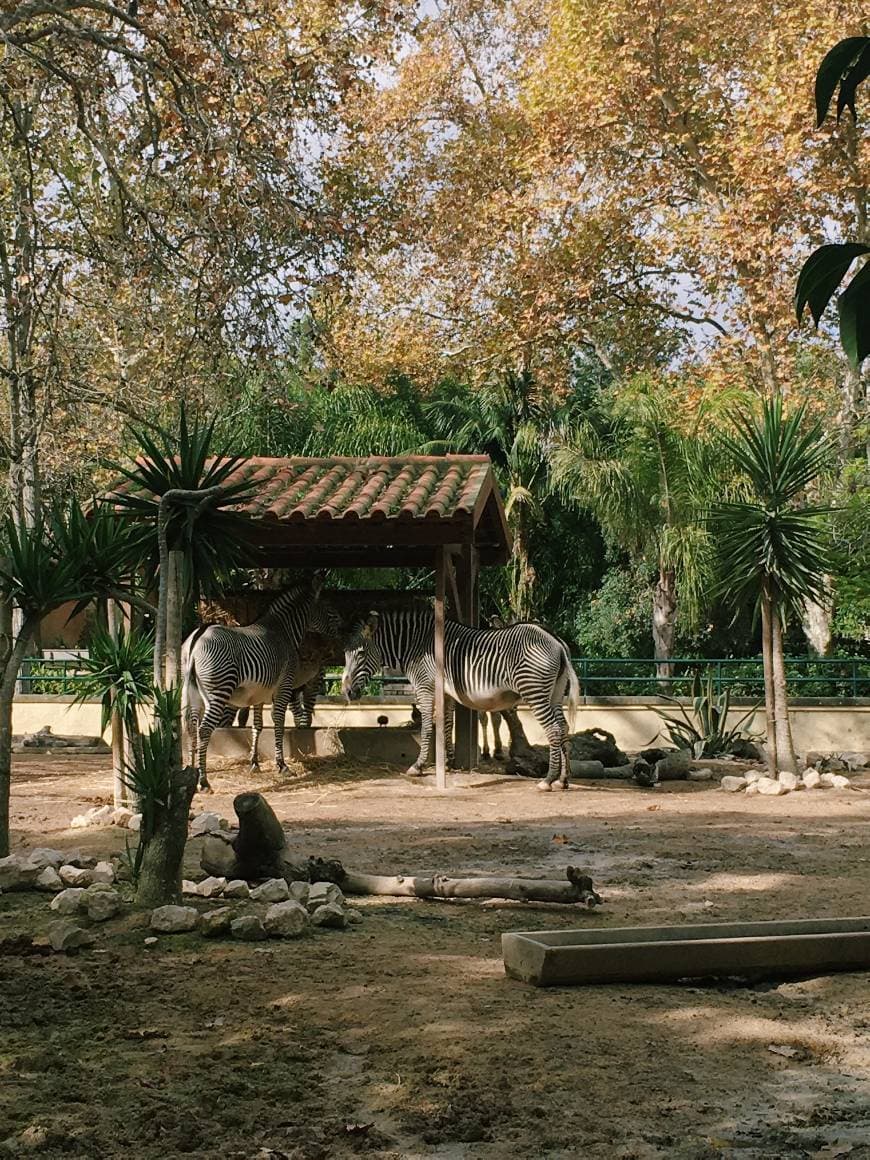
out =
[[[263,727],[263,705],[271,702],[275,725],[275,761],[284,761],[284,718],[299,664],[299,645],[310,629],[333,631],[333,609],[318,601],[321,580],[283,593],[247,628],[210,624],[184,641],[182,652],[184,719],[190,738],[190,763],[200,770],[200,788],[209,790],[205,756],[213,731],[227,705],[254,708],[251,768],[259,769],[258,744]],[[332,614],[332,615],[329,615]]]

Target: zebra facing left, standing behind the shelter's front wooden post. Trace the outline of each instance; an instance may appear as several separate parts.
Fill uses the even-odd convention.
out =
[[[355,629],[345,650],[342,691],[349,701],[382,668],[405,673],[422,716],[420,755],[408,769],[420,775],[429,756],[435,702],[435,617],[427,610],[372,612]],[[541,789],[556,781],[568,788],[568,722],[573,725],[580,682],[566,646],[539,624],[472,629],[444,623],[444,737],[452,759],[454,701],[492,712],[525,702],[550,745],[550,766]],[[568,695],[568,722],[561,709]]]

